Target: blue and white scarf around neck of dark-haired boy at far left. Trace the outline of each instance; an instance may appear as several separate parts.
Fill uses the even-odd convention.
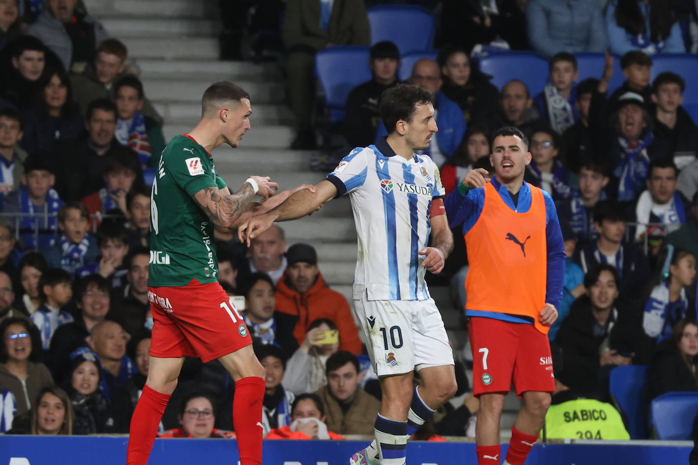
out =
[[[20,188],[20,211],[22,213],[45,213],[46,216],[43,218],[40,216],[24,216],[22,217],[22,241],[24,241],[24,246],[28,249],[42,250],[46,247],[50,247],[55,242],[56,229],[58,227],[58,220],[55,215],[63,206],[63,201],[58,197],[58,192],[53,189],[49,189],[46,192],[46,202],[43,204],[43,212],[38,212],[38,208],[34,205],[29,197],[29,192],[27,191],[27,186],[22,186]],[[34,236],[34,231],[36,230],[36,224],[38,224],[39,237]]]

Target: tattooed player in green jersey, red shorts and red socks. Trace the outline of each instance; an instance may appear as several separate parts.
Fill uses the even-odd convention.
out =
[[[201,121],[188,134],[172,138],[153,182],[148,298],[154,326],[148,379],[131,420],[128,465],[147,463],[185,356],[218,359],[230,372],[240,464],[262,463],[265,369],[255,358],[242,317],[218,284],[214,226],[235,229],[292,192],[311,187],[269,199],[276,183],[250,176],[231,194],[210,152],[222,144],[237,147],[250,129],[250,98],[235,84],[216,82],[201,105]],[[269,200],[253,203],[255,195]]]

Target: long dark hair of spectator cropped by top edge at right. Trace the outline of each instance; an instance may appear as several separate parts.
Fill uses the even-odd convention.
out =
[[[611,3],[607,8],[610,8]],[[625,29],[630,36],[646,33],[652,42],[659,42],[669,37],[674,16],[669,3],[664,0],[650,0],[650,30],[645,28],[645,18],[640,10],[639,0],[618,0],[614,19],[618,27]]]

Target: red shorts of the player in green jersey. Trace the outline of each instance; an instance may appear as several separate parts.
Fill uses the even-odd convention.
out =
[[[149,287],[150,355],[199,357],[206,363],[252,344],[247,326],[221,284]]]

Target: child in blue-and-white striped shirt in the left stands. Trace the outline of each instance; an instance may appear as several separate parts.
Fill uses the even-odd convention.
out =
[[[31,321],[39,329],[41,345],[47,351],[56,329],[73,321],[73,316],[63,307],[73,297],[70,289],[70,273],[60,268],[49,268],[39,278],[41,305],[31,314]]]

